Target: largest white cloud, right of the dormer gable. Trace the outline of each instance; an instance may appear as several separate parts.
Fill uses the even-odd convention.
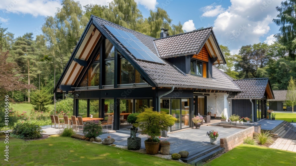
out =
[[[236,53],[243,45],[259,43],[274,24],[272,19],[278,14],[275,7],[280,4],[281,0],[231,0],[231,6],[214,21],[219,44]]]

